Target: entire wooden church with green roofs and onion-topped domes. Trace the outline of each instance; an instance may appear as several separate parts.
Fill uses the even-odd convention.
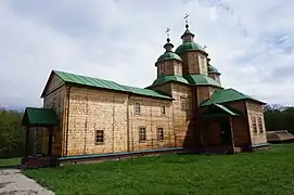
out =
[[[268,148],[265,103],[225,89],[208,53],[186,28],[175,52],[167,39],[146,88],[52,70],[43,108],[25,110],[23,164]]]

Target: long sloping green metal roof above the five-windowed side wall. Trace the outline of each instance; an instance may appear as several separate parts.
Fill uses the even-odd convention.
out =
[[[81,86],[115,90],[115,91],[120,91],[120,92],[126,92],[126,93],[133,93],[133,94],[139,94],[139,95],[171,100],[171,98],[168,95],[161,94],[156,91],[149,90],[149,89],[123,86],[111,80],[98,79],[98,78],[75,75],[75,74],[69,74],[69,73],[64,73],[64,72],[53,70],[53,73],[56,74],[64,82],[67,82],[67,83],[76,83],[76,84],[81,84]]]

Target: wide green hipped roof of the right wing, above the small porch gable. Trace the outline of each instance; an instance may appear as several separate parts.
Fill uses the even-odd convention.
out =
[[[255,100],[246,94],[243,94],[234,89],[223,89],[223,90],[216,90],[210,99],[203,101],[200,106],[207,106],[212,104],[219,104],[219,103],[225,103],[225,102],[233,102],[233,101],[239,101],[239,100],[251,100],[254,102],[259,102],[261,104],[261,101]]]

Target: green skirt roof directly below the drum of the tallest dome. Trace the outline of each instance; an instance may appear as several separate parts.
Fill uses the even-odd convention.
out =
[[[220,87],[220,83],[217,82],[215,79],[212,79],[210,77],[207,77],[206,75],[186,75],[183,76],[188,82],[192,86],[215,86]]]

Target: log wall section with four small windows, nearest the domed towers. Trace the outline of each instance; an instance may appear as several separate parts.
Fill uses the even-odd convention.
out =
[[[136,113],[135,104],[140,104],[140,113]],[[165,114],[162,107],[165,106]],[[129,100],[130,148],[131,151],[174,147],[171,101],[131,96]],[[139,141],[140,127],[145,128],[146,140]],[[157,128],[163,128],[164,140],[158,141]]]

